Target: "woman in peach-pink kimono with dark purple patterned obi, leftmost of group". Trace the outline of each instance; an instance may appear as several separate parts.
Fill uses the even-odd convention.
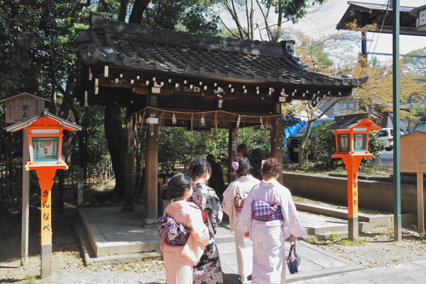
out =
[[[160,217],[158,234],[163,236],[161,251],[168,284],[192,283],[192,266],[202,256],[209,243],[209,229],[202,221],[200,207],[187,202],[192,195],[192,180],[178,173],[166,184],[168,195],[173,200]]]

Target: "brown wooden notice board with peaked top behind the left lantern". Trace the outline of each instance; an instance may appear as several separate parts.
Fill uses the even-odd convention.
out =
[[[28,93],[4,99],[1,102],[6,102],[6,124],[16,124],[40,114],[45,101],[48,100]]]

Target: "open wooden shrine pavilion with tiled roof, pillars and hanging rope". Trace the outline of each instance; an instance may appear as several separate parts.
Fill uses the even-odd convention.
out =
[[[307,71],[293,57],[293,40],[272,43],[166,31],[98,13],[91,13],[89,22],[89,29],[78,31],[74,95],[87,104],[126,107],[130,141],[135,124],[148,124],[144,226],[157,224],[158,123],[195,129],[204,122],[229,129],[229,163],[236,155],[236,129],[268,124],[271,156],[280,161],[281,104],[350,97],[368,79]],[[126,168],[133,169],[131,147],[129,156]],[[127,172],[124,209],[133,209],[133,170]]]

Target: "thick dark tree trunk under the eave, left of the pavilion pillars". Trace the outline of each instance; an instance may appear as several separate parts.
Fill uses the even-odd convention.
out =
[[[126,132],[122,127],[121,108],[106,106],[105,107],[105,138],[108,142],[109,155],[111,155],[112,168],[116,178],[113,196],[122,197],[124,195],[124,163],[126,155]]]

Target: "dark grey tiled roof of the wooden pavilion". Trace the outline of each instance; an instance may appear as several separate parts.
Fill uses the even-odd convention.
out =
[[[282,82],[347,87],[368,77],[330,77],[306,70],[285,52],[285,42],[238,40],[168,31],[111,20],[91,13],[90,28],[78,31],[80,58],[128,67],[245,82]]]

